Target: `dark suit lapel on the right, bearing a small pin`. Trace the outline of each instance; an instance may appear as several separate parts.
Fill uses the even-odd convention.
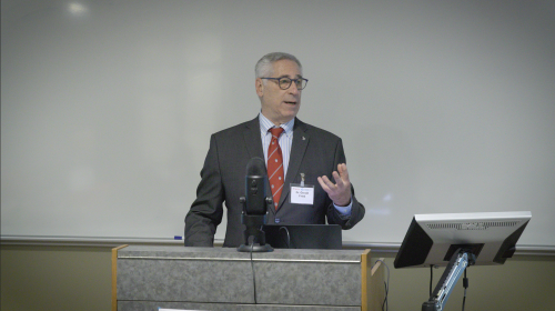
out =
[[[291,183],[295,180],[295,177],[299,175],[301,162],[303,161],[304,153],[310,141],[310,134],[306,130],[306,124],[301,120],[295,119],[287,174],[285,175],[285,183],[283,184],[283,191],[281,192],[279,208],[281,208],[283,202],[285,202],[289,197],[289,192],[291,191]]]

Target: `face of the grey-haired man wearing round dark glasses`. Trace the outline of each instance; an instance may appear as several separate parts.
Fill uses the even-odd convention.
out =
[[[299,66],[292,60],[279,60],[273,63],[273,72],[271,77],[264,78],[283,78],[291,79],[301,78]],[[279,126],[289,122],[295,118],[301,107],[301,90],[295,83],[286,90],[280,89],[278,80],[256,79],[256,94],[262,103],[262,114],[274,124]]]

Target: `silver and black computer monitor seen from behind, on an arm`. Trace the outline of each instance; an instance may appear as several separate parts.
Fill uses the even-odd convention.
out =
[[[476,265],[503,264],[531,218],[529,211],[415,214],[394,267],[445,267],[461,248]]]

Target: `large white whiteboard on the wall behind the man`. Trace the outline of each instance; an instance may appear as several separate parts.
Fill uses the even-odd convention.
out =
[[[553,1],[407,2],[2,0],[2,237],[182,235],[210,134],[285,51],[366,207],[345,241],[529,210],[519,243],[555,245]]]

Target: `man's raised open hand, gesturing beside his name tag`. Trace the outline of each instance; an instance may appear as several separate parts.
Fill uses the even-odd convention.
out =
[[[332,175],[335,183],[326,175],[319,177],[317,182],[320,182],[320,185],[322,185],[322,189],[330,195],[335,205],[349,205],[351,203],[351,182],[349,181],[346,164],[337,164],[337,171],[333,171]]]

